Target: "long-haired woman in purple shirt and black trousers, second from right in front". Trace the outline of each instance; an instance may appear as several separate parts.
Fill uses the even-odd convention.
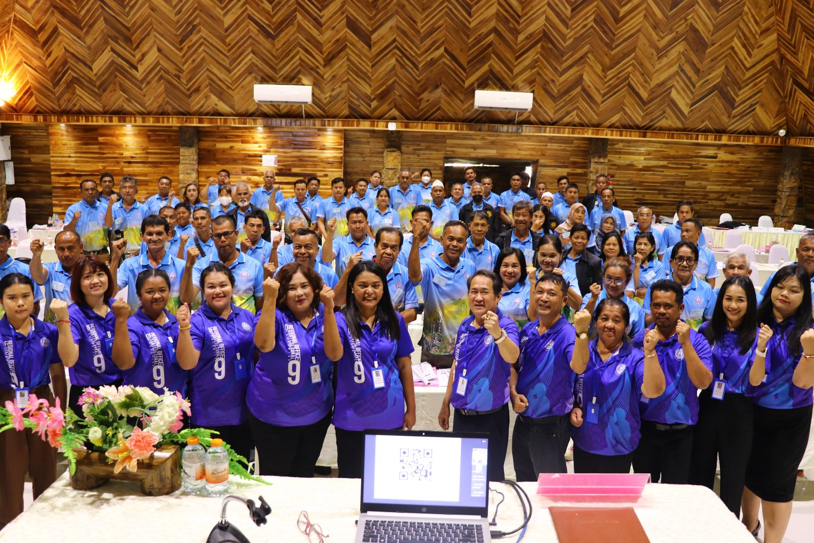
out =
[[[755,287],[748,277],[733,275],[720,287],[712,320],[698,329],[712,346],[713,380],[698,397],[689,483],[711,489],[720,457],[720,499],[737,516],[752,446],[752,401],[746,388],[757,361],[755,348],[766,348],[758,330]]]

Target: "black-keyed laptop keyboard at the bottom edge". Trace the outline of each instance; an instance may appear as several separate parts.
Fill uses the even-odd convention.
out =
[[[484,543],[484,528],[470,523],[365,520],[365,543]]]

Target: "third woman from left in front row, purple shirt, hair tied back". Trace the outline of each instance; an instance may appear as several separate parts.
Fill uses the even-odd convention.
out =
[[[178,365],[175,348],[178,322],[167,311],[169,277],[163,269],[145,269],[136,277],[141,307],[130,317],[125,300],[113,303],[116,334],[113,363],[122,370],[124,384],[147,387],[156,394],[181,392],[186,396],[186,370]]]

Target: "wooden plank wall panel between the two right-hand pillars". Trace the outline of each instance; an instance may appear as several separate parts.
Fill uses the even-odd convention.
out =
[[[781,149],[610,140],[607,164],[624,209],[647,204],[672,217],[677,201],[691,199],[704,224],[729,212],[754,226],[773,215]]]

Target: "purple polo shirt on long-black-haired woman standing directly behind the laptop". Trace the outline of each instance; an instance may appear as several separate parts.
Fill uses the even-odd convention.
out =
[[[348,331],[343,313],[336,313],[344,354],[336,363],[334,426],[343,430],[393,429],[405,416],[405,392],[396,359],[413,353],[413,341],[399,313],[400,338],[390,339],[379,322],[373,330],[360,325],[359,338]],[[383,370],[383,388],[374,388],[373,371]]]

